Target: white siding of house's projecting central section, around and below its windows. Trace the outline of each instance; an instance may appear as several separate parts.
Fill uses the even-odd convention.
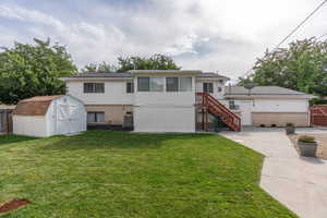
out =
[[[195,78],[191,92],[135,92],[135,132],[195,132]],[[137,77],[134,80],[135,88]]]

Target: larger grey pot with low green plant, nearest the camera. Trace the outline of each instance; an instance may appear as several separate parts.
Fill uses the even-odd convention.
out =
[[[302,135],[298,140],[298,147],[302,156],[315,157],[317,152],[317,142],[315,137]]]

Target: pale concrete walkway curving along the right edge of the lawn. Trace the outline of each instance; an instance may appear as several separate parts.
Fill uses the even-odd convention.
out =
[[[326,160],[299,157],[283,129],[245,128],[220,135],[266,156],[261,186],[272,197],[302,218],[327,217]]]

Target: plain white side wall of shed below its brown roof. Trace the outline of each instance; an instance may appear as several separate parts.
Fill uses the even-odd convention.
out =
[[[16,135],[28,135],[45,137],[47,122],[45,116],[13,116],[13,133]]]

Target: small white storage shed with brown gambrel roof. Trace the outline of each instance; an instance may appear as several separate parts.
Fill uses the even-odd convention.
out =
[[[86,131],[84,104],[72,96],[36,96],[13,111],[13,133],[45,137]]]

